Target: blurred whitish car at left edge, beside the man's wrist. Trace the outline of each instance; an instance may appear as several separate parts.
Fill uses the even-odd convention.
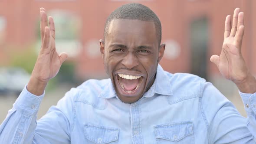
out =
[[[29,82],[30,74],[18,67],[0,68],[0,93],[20,95]]]

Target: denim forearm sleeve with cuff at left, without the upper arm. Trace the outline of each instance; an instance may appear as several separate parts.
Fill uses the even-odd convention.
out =
[[[28,92],[26,87],[23,89],[0,125],[2,144],[20,144],[30,132],[28,130],[36,128],[36,115],[44,94],[36,96]]]

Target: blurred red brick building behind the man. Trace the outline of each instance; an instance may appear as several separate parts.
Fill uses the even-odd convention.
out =
[[[0,0],[0,64],[8,63],[8,49],[26,49],[40,39],[39,8],[44,7],[60,23],[57,49],[71,53],[76,75],[105,77],[98,40],[107,16],[131,2],[150,7],[161,20],[162,42],[167,43],[164,69],[208,79],[220,75],[209,59],[220,54],[225,17],[240,7],[246,26],[243,56],[256,74],[256,0]]]

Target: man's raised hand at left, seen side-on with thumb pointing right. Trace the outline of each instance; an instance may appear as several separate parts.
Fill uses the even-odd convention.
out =
[[[40,14],[42,45],[31,74],[30,82],[27,85],[28,91],[35,95],[43,94],[48,81],[57,75],[60,66],[68,58],[68,55],[65,52],[62,52],[61,54],[56,52],[53,18],[49,16],[47,20],[46,10],[44,8],[40,8]]]

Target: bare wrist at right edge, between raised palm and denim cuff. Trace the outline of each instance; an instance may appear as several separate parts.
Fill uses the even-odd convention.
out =
[[[253,94],[256,92],[256,79],[250,73],[243,82],[236,83],[240,92]]]

